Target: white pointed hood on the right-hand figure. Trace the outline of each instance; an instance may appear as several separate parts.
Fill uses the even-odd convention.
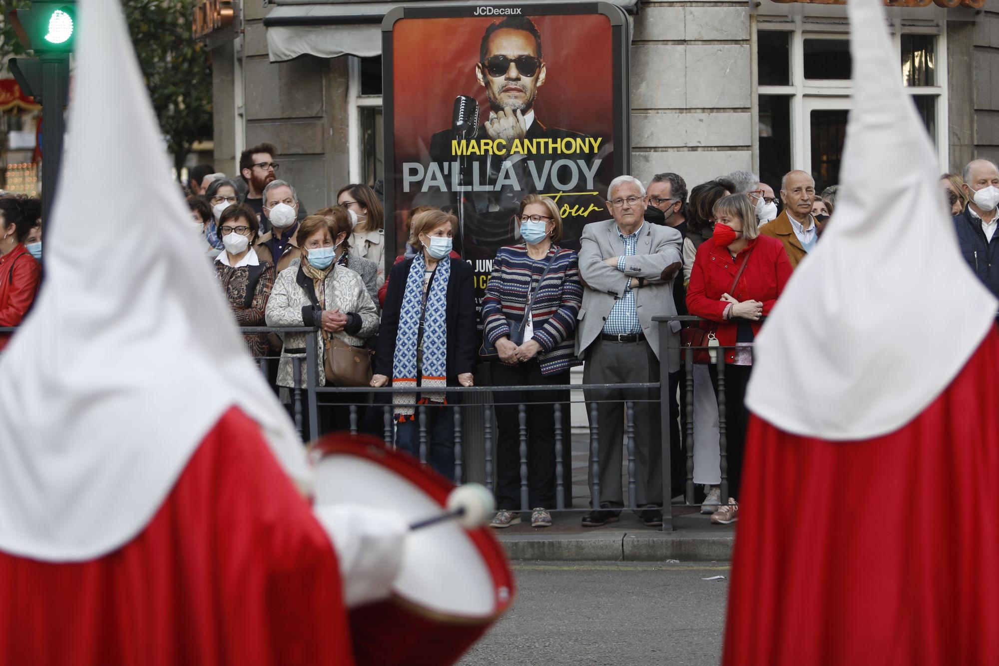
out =
[[[915,418],[978,348],[997,305],[961,257],[881,1],[850,0],[848,12],[841,194],[756,339],[746,395],[781,430],[829,440]]]

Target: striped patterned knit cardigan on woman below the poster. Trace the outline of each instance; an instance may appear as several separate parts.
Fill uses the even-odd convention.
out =
[[[544,262],[552,254],[551,269],[536,286]],[[572,250],[552,245],[547,258],[534,261],[527,256],[526,245],[501,247],[493,261],[493,275],[483,299],[483,334],[493,344],[509,335],[507,320],[523,319],[532,286],[538,290],[530,314],[533,339],[541,346],[537,354],[541,374],[562,372],[578,364],[572,347],[575,318],[582,305],[582,285],[578,256]]]

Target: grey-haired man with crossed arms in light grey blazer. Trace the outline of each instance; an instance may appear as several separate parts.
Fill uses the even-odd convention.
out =
[[[657,315],[676,314],[672,280],[680,267],[680,233],[649,224],[645,218],[645,188],[632,176],[618,176],[607,188],[611,219],[582,229],[579,275],[585,288],[575,341],[584,358],[584,384],[652,383],[679,367],[678,355],[659,359]],[[670,329],[677,338],[679,323]],[[677,347],[678,339],[671,340]],[[582,524],[595,527],[617,520],[624,506],[621,489],[624,401],[633,402],[636,506],[641,520],[662,524],[662,443],[658,391],[587,390],[596,403],[598,475],[589,469],[590,506]]]

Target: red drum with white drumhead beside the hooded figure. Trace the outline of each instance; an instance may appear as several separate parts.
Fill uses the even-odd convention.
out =
[[[338,434],[316,443],[316,503],[360,504],[410,524],[444,512],[455,488],[381,440]],[[360,666],[454,664],[509,608],[513,576],[488,527],[449,520],[410,533],[393,596],[351,609]]]

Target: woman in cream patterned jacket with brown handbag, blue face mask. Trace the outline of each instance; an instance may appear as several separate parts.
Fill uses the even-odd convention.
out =
[[[324,352],[336,338],[352,347],[363,347],[378,332],[379,317],[375,301],[365,289],[361,276],[349,268],[338,266],[335,259],[338,246],[347,231],[337,231],[322,215],[310,215],[299,225],[296,241],[303,257],[294,259],[278,274],[267,302],[268,326],[318,326],[319,333],[288,333],[278,366],[278,386],[294,389],[293,357],[305,358],[306,345],[316,345],[317,382],[326,386]],[[307,370],[302,368],[300,388],[305,388]],[[338,400],[339,404],[320,404],[320,432],[311,438],[334,430],[350,427],[349,410],[343,406],[357,402],[358,393],[324,394],[323,401]],[[287,392],[282,391],[286,401]]]

